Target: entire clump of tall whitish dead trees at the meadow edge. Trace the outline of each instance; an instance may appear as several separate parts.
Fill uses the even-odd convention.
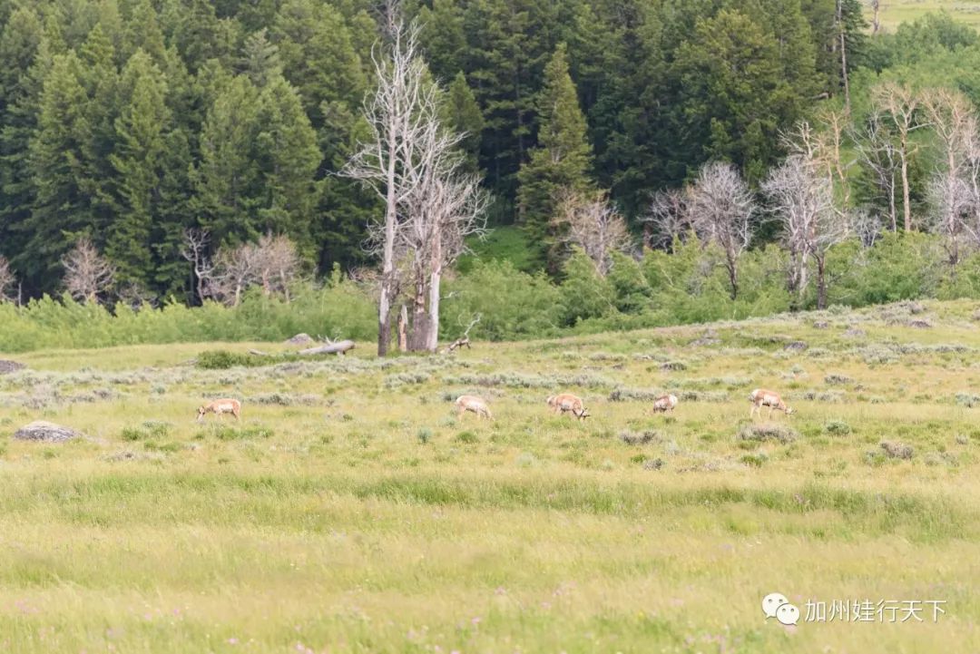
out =
[[[405,26],[399,14],[398,2],[386,4],[390,42],[372,53],[377,89],[365,105],[371,140],[341,171],[385,204],[383,221],[368,227],[368,247],[381,258],[378,355],[388,350],[405,261],[414,289],[409,349],[436,350],[443,270],[463,251],[466,235],[483,229],[487,205],[478,180],[462,172],[465,134],[440,119],[441,92],[427,80],[417,25]]]

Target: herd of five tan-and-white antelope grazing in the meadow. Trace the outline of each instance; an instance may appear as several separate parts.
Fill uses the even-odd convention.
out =
[[[761,415],[762,407],[769,407],[768,417],[772,417],[773,411],[782,411],[786,415],[793,413],[793,409],[786,405],[782,397],[779,397],[778,393],[773,393],[772,391],[766,391],[765,389],[756,389],[751,394],[749,394],[749,399],[752,401],[752,410],[749,411],[749,417],[754,417],[757,413]],[[548,397],[545,400],[552,409],[555,410],[555,415],[563,415],[564,413],[571,413],[578,420],[585,420],[591,414],[589,409],[585,408],[585,403],[582,401],[581,397],[573,396],[570,393],[562,393],[557,396]],[[666,413],[667,411],[673,411],[677,406],[677,396],[667,394],[665,396],[658,397],[654,400],[653,410],[655,413]],[[477,418],[487,418],[493,420],[493,413],[490,411],[490,404],[487,400],[482,397],[476,396],[460,396],[456,398],[456,407],[459,410],[457,414],[458,418],[463,418],[463,414],[466,411],[470,411],[476,414]],[[221,416],[225,413],[230,413],[235,417],[235,420],[241,418],[242,405],[237,399],[216,399],[213,402],[207,404],[202,404],[197,409],[197,419],[198,422],[204,419],[205,414],[214,413],[221,419]]]

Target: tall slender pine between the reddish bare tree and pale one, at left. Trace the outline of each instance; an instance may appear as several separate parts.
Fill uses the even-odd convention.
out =
[[[116,218],[106,256],[120,281],[145,288],[153,270],[150,234],[170,121],[167,85],[150,56],[137,50],[123,69],[121,87],[123,110],[116,118],[117,147],[110,158],[116,171]]]

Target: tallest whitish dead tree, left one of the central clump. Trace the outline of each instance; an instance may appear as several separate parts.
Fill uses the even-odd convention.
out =
[[[384,216],[374,230],[371,247],[381,257],[378,296],[377,353],[388,352],[395,287],[395,247],[400,209],[417,177],[406,170],[418,157],[418,141],[438,120],[438,88],[430,83],[418,50],[418,27],[398,17],[398,3],[386,5],[388,43],[375,46],[371,62],[377,86],[365,102],[370,138],[344,165],[340,174],[368,185],[384,202]]]

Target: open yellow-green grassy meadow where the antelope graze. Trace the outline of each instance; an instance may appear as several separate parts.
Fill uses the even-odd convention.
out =
[[[188,363],[215,344],[24,355],[0,376],[0,649],[976,651],[977,308],[228,370]],[[796,413],[751,422],[760,386]],[[559,389],[592,417],[549,414]],[[457,419],[462,392],[496,420]],[[196,424],[221,396],[241,422]],[[10,438],[37,418],[89,438]],[[764,620],[774,591],[798,627]],[[805,622],[864,599],[946,614]]]

